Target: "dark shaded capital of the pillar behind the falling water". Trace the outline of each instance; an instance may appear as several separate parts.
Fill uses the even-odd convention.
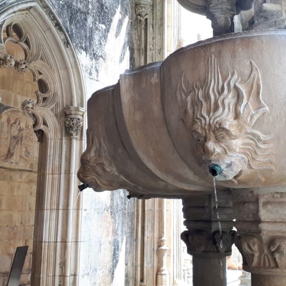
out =
[[[188,230],[181,234],[190,255],[229,256],[236,237],[232,197],[228,192],[218,195],[219,217],[213,195],[201,195],[183,199],[184,225]],[[220,228],[222,232],[220,233]]]

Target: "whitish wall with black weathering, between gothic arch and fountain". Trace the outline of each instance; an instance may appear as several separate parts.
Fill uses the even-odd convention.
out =
[[[82,65],[87,97],[129,68],[130,1],[50,0]],[[133,282],[134,199],[126,190],[83,196],[79,285]]]

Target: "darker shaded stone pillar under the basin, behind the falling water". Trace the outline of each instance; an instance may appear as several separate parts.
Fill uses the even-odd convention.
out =
[[[187,230],[182,232],[181,239],[187,246],[188,254],[193,255],[194,286],[226,286],[226,256],[231,255],[236,235],[232,230],[231,194],[218,194],[218,205],[220,222],[214,195],[183,199],[184,225]]]

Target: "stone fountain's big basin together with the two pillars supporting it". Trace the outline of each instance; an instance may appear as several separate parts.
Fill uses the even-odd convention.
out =
[[[194,286],[226,285],[233,243],[252,285],[286,284],[285,46],[283,30],[200,41],[127,70],[88,101],[79,179],[181,198]]]

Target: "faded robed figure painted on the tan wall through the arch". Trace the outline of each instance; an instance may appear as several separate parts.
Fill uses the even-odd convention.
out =
[[[15,121],[10,125],[10,141],[4,162],[10,161],[15,164],[19,163],[23,131],[24,129],[20,125],[20,118],[16,117]]]

